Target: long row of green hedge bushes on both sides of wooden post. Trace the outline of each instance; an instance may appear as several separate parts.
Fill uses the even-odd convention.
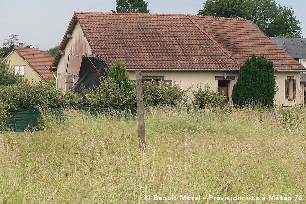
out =
[[[109,78],[100,82],[93,90],[81,89],[82,94],[62,92],[55,86],[44,81],[22,83],[20,85],[0,86],[0,101],[12,109],[31,107],[119,107],[136,105],[136,87],[129,89],[116,84]],[[159,86],[146,81],[143,83],[143,98],[145,105],[177,105],[186,101],[186,91],[179,85],[164,84]]]

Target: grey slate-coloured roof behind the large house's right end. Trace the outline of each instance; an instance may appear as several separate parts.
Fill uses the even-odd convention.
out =
[[[306,38],[270,38],[293,58],[306,58]]]

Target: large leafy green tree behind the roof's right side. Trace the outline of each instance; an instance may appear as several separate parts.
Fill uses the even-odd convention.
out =
[[[292,35],[300,37],[300,21],[291,8],[277,5],[275,0],[207,0],[198,15],[254,21],[269,37]]]

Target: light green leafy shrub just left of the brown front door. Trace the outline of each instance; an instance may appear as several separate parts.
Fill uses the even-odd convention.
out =
[[[194,106],[200,109],[207,107],[215,109],[219,107],[225,99],[224,92],[220,95],[218,91],[211,91],[208,82],[205,82],[204,87],[202,87],[200,83],[197,86],[197,90],[192,91],[192,95],[194,97]]]

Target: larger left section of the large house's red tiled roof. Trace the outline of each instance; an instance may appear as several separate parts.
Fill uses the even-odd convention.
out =
[[[183,14],[76,12],[75,16],[93,52],[120,59],[127,69],[240,68]],[[214,67],[206,60],[211,54],[216,57]],[[133,63],[136,60],[139,63]]]

